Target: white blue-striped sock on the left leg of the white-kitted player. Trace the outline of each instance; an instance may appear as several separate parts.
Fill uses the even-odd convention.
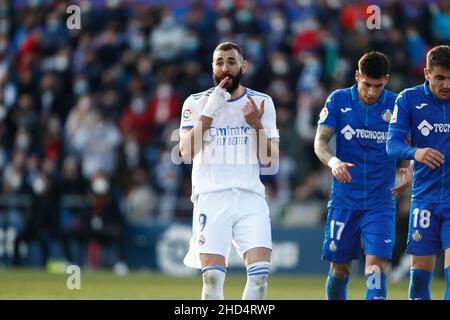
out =
[[[202,300],[223,300],[223,283],[226,269],[222,266],[207,266],[202,269]]]

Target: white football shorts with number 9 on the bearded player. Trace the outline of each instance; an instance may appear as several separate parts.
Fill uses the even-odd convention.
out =
[[[231,244],[243,257],[249,249],[272,249],[269,207],[261,195],[244,189],[199,194],[194,201],[193,236],[183,262],[201,269],[200,254],[228,256]]]

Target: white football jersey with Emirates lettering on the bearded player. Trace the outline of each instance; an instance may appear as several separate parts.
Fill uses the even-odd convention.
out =
[[[189,96],[181,112],[181,129],[192,128],[214,88]],[[256,134],[245,121],[242,109],[251,96],[258,108],[264,100],[262,125],[270,140],[278,140],[275,107],[268,95],[245,88],[244,94],[220,108],[205,133],[203,148],[192,164],[192,199],[200,193],[241,188],[264,196],[259,178]]]

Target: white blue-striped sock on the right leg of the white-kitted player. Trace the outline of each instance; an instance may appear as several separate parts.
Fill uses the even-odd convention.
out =
[[[269,270],[270,263],[266,261],[255,262],[247,266],[247,284],[242,300],[266,299]]]

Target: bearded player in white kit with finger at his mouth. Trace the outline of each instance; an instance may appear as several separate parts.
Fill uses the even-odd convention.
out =
[[[272,250],[264,171],[278,168],[272,99],[241,85],[248,62],[241,48],[213,53],[216,87],[193,94],[181,114],[180,150],[192,161],[193,236],[185,265],[202,270],[201,298],[223,299],[231,244],[247,267],[242,299],[265,299]]]

